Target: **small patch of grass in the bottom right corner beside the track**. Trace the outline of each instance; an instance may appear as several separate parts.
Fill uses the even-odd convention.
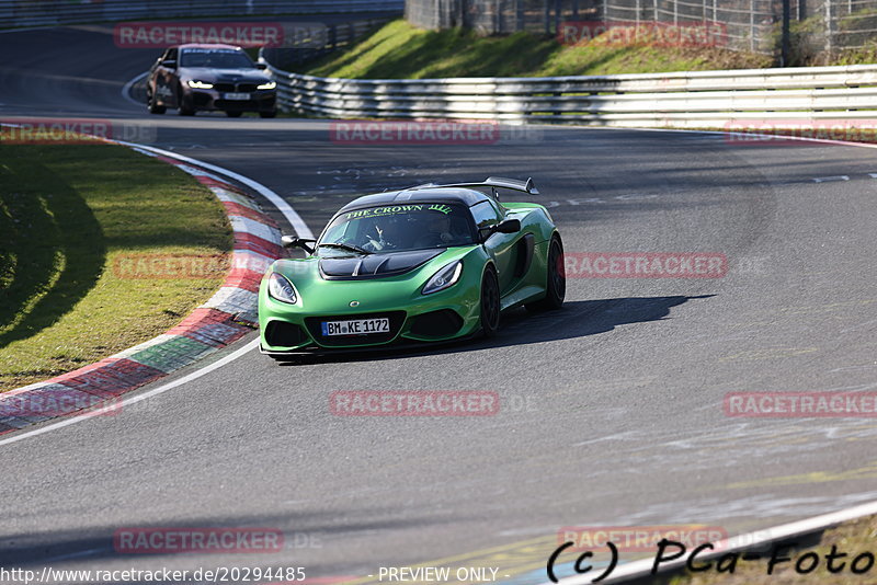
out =
[[[804,541],[801,538],[799,541]],[[820,585],[864,585],[875,583],[874,572],[877,567],[872,567],[864,574],[853,574],[851,571],[852,561],[859,553],[874,553],[875,541],[877,541],[877,516],[869,516],[844,523],[834,528],[822,532],[818,546],[812,548],[800,548],[791,551],[781,551],[783,555],[790,557],[791,562],[778,564],[772,575],[767,575],[767,561],[740,561],[733,574],[718,574],[715,570],[704,573],[686,573],[670,578],[665,583],[669,585],[797,585],[799,583],[819,583]],[[845,558],[834,561],[834,567],[840,567],[841,562],[845,562],[842,571],[832,573],[828,571],[825,555],[832,552],[832,547],[836,547],[838,553],[846,553]],[[807,552],[815,552],[820,557],[819,566],[808,574],[799,574],[795,571],[795,563]],[[767,553],[770,558],[770,553]],[[858,569],[865,566],[864,561],[859,561]],[[805,562],[804,567],[808,566]],[[715,563],[714,563],[715,567]]]

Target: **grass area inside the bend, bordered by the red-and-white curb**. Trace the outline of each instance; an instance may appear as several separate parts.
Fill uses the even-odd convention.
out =
[[[221,204],[172,165],[113,145],[0,144],[0,391],[164,332],[221,284],[230,249]],[[214,261],[132,264],[168,257]]]

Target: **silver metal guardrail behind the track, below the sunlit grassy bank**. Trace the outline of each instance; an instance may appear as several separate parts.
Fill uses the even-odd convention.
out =
[[[753,119],[877,119],[877,66],[596,77],[324,79],[269,64],[281,107],[341,118],[720,127]]]

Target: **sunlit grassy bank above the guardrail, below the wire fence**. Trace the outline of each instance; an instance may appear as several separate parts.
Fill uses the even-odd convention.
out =
[[[770,67],[771,57],[717,47],[561,45],[531,33],[478,36],[472,31],[424,31],[392,21],[353,47],[331,53],[300,72],[351,79],[550,77]]]

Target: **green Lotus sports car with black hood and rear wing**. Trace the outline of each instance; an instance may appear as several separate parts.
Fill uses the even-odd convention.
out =
[[[277,260],[262,278],[262,353],[491,336],[506,309],[559,309],[563,245],[551,217],[500,203],[498,190],[538,195],[532,179],[420,185],[349,203],[318,240],[284,236],[306,257]]]

